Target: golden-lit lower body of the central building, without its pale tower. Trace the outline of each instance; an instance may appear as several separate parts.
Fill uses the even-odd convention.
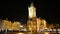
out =
[[[32,18],[27,22],[29,31],[39,31],[46,28],[46,21],[41,18]]]

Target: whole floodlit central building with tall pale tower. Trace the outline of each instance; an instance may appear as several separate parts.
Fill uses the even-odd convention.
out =
[[[46,21],[42,18],[36,17],[36,8],[34,7],[33,3],[31,6],[28,7],[28,21],[27,21],[27,28],[28,31],[39,31],[41,29],[46,28]]]

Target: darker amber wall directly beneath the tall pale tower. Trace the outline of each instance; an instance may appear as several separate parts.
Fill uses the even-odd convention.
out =
[[[36,23],[36,19],[33,18],[32,20],[29,20],[27,22],[27,25],[28,25],[28,30],[29,31],[36,31],[37,30],[37,23]]]

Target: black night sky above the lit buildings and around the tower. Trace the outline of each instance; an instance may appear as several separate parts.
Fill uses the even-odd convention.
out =
[[[37,17],[45,19],[48,23],[59,23],[60,13],[56,11],[55,0],[16,0],[0,1],[0,19],[8,18],[11,21],[26,23],[28,20],[28,6],[34,3]]]

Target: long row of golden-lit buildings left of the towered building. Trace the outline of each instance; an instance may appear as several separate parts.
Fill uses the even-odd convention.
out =
[[[0,26],[2,29],[9,29],[9,30],[17,30],[19,29],[19,26],[21,25],[19,22],[14,21],[13,23],[8,20],[2,20],[1,21],[2,26]]]

